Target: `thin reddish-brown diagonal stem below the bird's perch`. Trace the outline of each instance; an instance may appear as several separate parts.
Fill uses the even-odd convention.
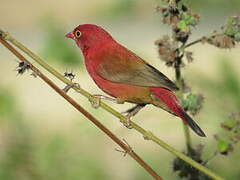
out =
[[[105,134],[107,134],[114,142],[116,142],[126,153],[128,153],[134,160],[136,160],[154,179],[163,180],[146,162],[144,162],[141,157],[139,157],[129,145],[120,140],[116,135],[114,135],[109,129],[107,129],[102,123],[95,119],[90,113],[88,113],[84,108],[82,108],[74,99],[68,96],[63,90],[61,90],[57,85],[55,85],[47,76],[41,73],[36,67],[34,67],[29,61],[26,60],[19,52],[17,52],[10,44],[0,38],[0,42],[9,49],[15,56],[17,56],[21,61],[27,62],[30,65],[31,70],[37,74],[44,82],[46,82],[51,88],[53,88],[60,96],[62,96],[66,101],[68,101],[73,107],[75,107],[79,112],[81,112],[87,119],[94,123],[99,129],[101,129]]]

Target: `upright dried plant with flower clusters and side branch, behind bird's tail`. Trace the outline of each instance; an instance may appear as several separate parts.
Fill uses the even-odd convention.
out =
[[[233,16],[227,19],[226,24],[221,31],[214,31],[209,36],[197,39],[187,44],[191,31],[200,21],[200,16],[191,12],[190,8],[184,3],[184,0],[162,0],[164,5],[158,6],[157,11],[161,13],[161,21],[171,27],[172,37],[164,36],[157,40],[155,44],[158,47],[160,59],[167,66],[173,67],[176,73],[176,81],[181,90],[181,101],[183,108],[192,115],[196,115],[202,108],[203,95],[194,94],[191,88],[185,83],[181,76],[181,68],[187,63],[193,61],[193,53],[186,51],[186,48],[197,43],[208,43],[218,48],[233,48],[240,42],[240,17]],[[240,113],[238,118],[227,120],[221,124],[225,130],[226,136],[215,136],[218,141],[218,148],[214,156],[218,153],[228,154],[233,151],[233,145],[240,141]],[[187,140],[187,138],[186,138]],[[187,141],[186,141],[187,142]],[[202,160],[203,146],[191,147],[188,144],[187,155],[195,161],[206,166],[207,162]],[[180,178],[189,180],[209,180],[207,176],[192,168],[179,158],[173,162],[173,170],[178,172]]]

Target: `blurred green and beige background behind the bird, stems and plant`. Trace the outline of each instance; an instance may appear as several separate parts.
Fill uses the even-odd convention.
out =
[[[78,48],[64,37],[83,23],[101,25],[120,43],[174,78],[174,71],[158,59],[154,45],[159,37],[170,34],[155,11],[160,0],[0,0],[0,4],[2,29],[62,73],[66,70],[75,73],[76,81],[89,92],[103,94],[87,74]],[[193,31],[192,39],[219,29],[228,16],[240,13],[239,0],[201,0],[189,4],[201,15],[201,24]],[[207,159],[216,149],[213,135],[221,133],[220,122],[240,108],[240,53],[239,47],[219,50],[201,44],[191,50],[195,61],[184,68],[184,78],[193,92],[205,97],[203,109],[195,119],[207,134],[204,139],[195,134],[192,138],[195,145],[205,145]],[[117,152],[116,144],[39,78],[33,78],[30,73],[16,75],[16,61],[16,57],[0,46],[1,180],[150,179],[136,162]],[[69,94],[120,138],[125,138],[162,177],[179,179],[172,172],[173,155],[144,141],[140,134],[124,128],[105,111],[93,109],[81,95],[73,91]],[[110,105],[119,111],[131,107],[130,104]],[[176,149],[185,149],[179,119],[149,106],[134,120]],[[227,157],[217,156],[209,167],[227,179],[240,179],[240,166],[236,165],[240,157],[238,149],[239,145]]]

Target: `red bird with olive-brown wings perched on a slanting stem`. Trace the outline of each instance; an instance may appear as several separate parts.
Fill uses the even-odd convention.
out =
[[[205,136],[178,102],[173,92],[178,90],[177,86],[115,41],[103,28],[83,24],[66,37],[75,40],[82,50],[87,71],[99,88],[115,97],[118,103],[137,104],[128,110],[128,117],[135,115],[145,105],[153,104],[180,117],[199,136]]]

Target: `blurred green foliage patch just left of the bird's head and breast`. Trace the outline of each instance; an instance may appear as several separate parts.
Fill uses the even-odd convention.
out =
[[[75,42],[65,37],[67,32],[54,20],[45,24],[46,39],[43,46],[43,56],[62,65],[81,67],[81,53]]]

